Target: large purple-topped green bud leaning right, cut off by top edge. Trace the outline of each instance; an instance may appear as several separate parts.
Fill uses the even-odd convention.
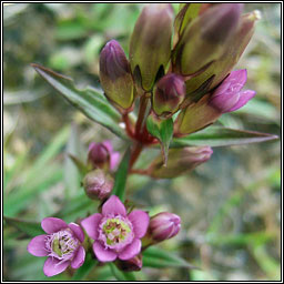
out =
[[[174,71],[194,74],[216,60],[225,41],[234,37],[242,8],[242,3],[216,4],[195,18],[173,52]]]

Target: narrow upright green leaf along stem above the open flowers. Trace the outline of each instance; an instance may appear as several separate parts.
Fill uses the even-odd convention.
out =
[[[120,166],[115,173],[114,186],[112,193],[120,197],[120,200],[124,201],[125,195],[125,185],[129,172],[129,162],[130,162],[130,148],[126,149],[124,156],[120,163]]]

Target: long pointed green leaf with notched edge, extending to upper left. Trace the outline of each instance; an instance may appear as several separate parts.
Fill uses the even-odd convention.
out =
[[[100,123],[118,136],[128,140],[119,126],[120,113],[95,89],[79,90],[73,80],[39,64],[31,64],[36,71],[57,89],[72,105],[82,111],[89,119]]]

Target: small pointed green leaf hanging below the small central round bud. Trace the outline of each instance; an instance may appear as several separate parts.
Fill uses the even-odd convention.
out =
[[[159,140],[161,144],[164,165],[166,165],[169,146],[173,136],[172,118],[168,120],[160,120],[158,118],[154,118],[153,115],[149,115],[146,120],[146,129],[154,138]]]

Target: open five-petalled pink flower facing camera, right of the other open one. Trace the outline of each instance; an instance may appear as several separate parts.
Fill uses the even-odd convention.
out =
[[[130,214],[118,196],[112,195],[102,206],[102,213],[84,219],[81,224],[95,242],[93,252],[100,262],[112,262],[116,257],[130,260],[141,251],[140,239],[149,225],[149,215],[141,210]]]

